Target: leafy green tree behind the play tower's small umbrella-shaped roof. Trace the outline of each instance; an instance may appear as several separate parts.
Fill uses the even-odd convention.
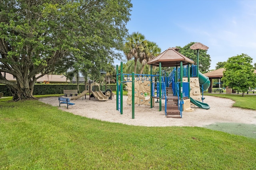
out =
[[[195,42],[191,42],[188,45],[185,45],[184,47],[176,46],[176,48],[179,48],[182,55],[192,59],[196,65],[199,65],[199,70],[202,73],[205,73],[209,70],[210,64],[211,64],[211,57],[209,54],[207,54],[207,50],[199,50],[199,64],[196,63],[197,61],[197,51],[190,49],[190,46],[193,45]]]

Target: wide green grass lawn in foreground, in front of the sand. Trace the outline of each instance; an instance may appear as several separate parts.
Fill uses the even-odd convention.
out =
[[[0,102],[0,169],[254,169],[256,139],[200,127],[88,119],[37,100]]]

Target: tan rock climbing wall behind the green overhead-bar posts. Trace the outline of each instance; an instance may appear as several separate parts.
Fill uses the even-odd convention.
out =
[[[127,104],[132,104],[132,82],[127,82],[128,99]],[[134,104],[144,104],[150,106],[150,81],[135,80],[134,82]],[[152,100],[154,106],[154,98]]]

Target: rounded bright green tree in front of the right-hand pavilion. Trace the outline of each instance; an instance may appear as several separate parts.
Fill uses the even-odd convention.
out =
[[[223,86],[246,92],[249,87],[256,86],[256,74],[252,66],[252,58],[246,54],[230,57],[223,72]]]

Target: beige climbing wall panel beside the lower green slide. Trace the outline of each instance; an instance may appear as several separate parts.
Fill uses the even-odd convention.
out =
[[[188,78],[182,78],[183,82],[188,82]],[[190,97],[194,100],[202,102],[200,84],[198,77],[190,77]]]

